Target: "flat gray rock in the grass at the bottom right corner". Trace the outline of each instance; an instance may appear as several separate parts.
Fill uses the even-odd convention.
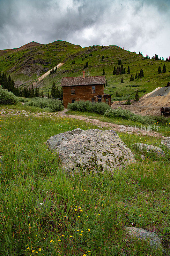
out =
[[[130,236],[137,239],[145,240],[151,247],[162,248],[161,240],[154,232],[147,231],[143,228],[125,227]]]

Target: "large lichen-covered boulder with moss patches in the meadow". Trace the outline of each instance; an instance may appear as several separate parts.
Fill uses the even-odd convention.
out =
[[[68,171],[113,171],[114,168],[135,162],[131,150],[112,130],[81,130],[63,132],[47,140],[50,150],[59,153]]]

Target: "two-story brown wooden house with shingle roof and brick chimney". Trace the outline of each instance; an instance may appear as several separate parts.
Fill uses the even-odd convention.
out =
[[[89,100],[91,102],[106,102],[110,105],[111,95],[104,94],[106,84],[105,76],[83,76],[63,77],[61,86],[63,87],[64,108],[68,103],[78,100]]]

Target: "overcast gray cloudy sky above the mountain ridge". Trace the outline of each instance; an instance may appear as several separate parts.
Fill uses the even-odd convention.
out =
[[[170,0],[0,0],[0,49],[35,41],[170,56]]]

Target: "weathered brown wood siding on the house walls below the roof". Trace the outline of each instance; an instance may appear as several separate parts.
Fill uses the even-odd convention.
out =
[[[71,87],[75,87],[75,94],[71,94]],[[63,101],[64,108],[67,108],[68,103],[72,100],[90,100],[102,95],[101,101],[104,102],[104,84],[95,84],[95,93],[92,93],[92,85],[77,85],[77,86],[63,86]]]

